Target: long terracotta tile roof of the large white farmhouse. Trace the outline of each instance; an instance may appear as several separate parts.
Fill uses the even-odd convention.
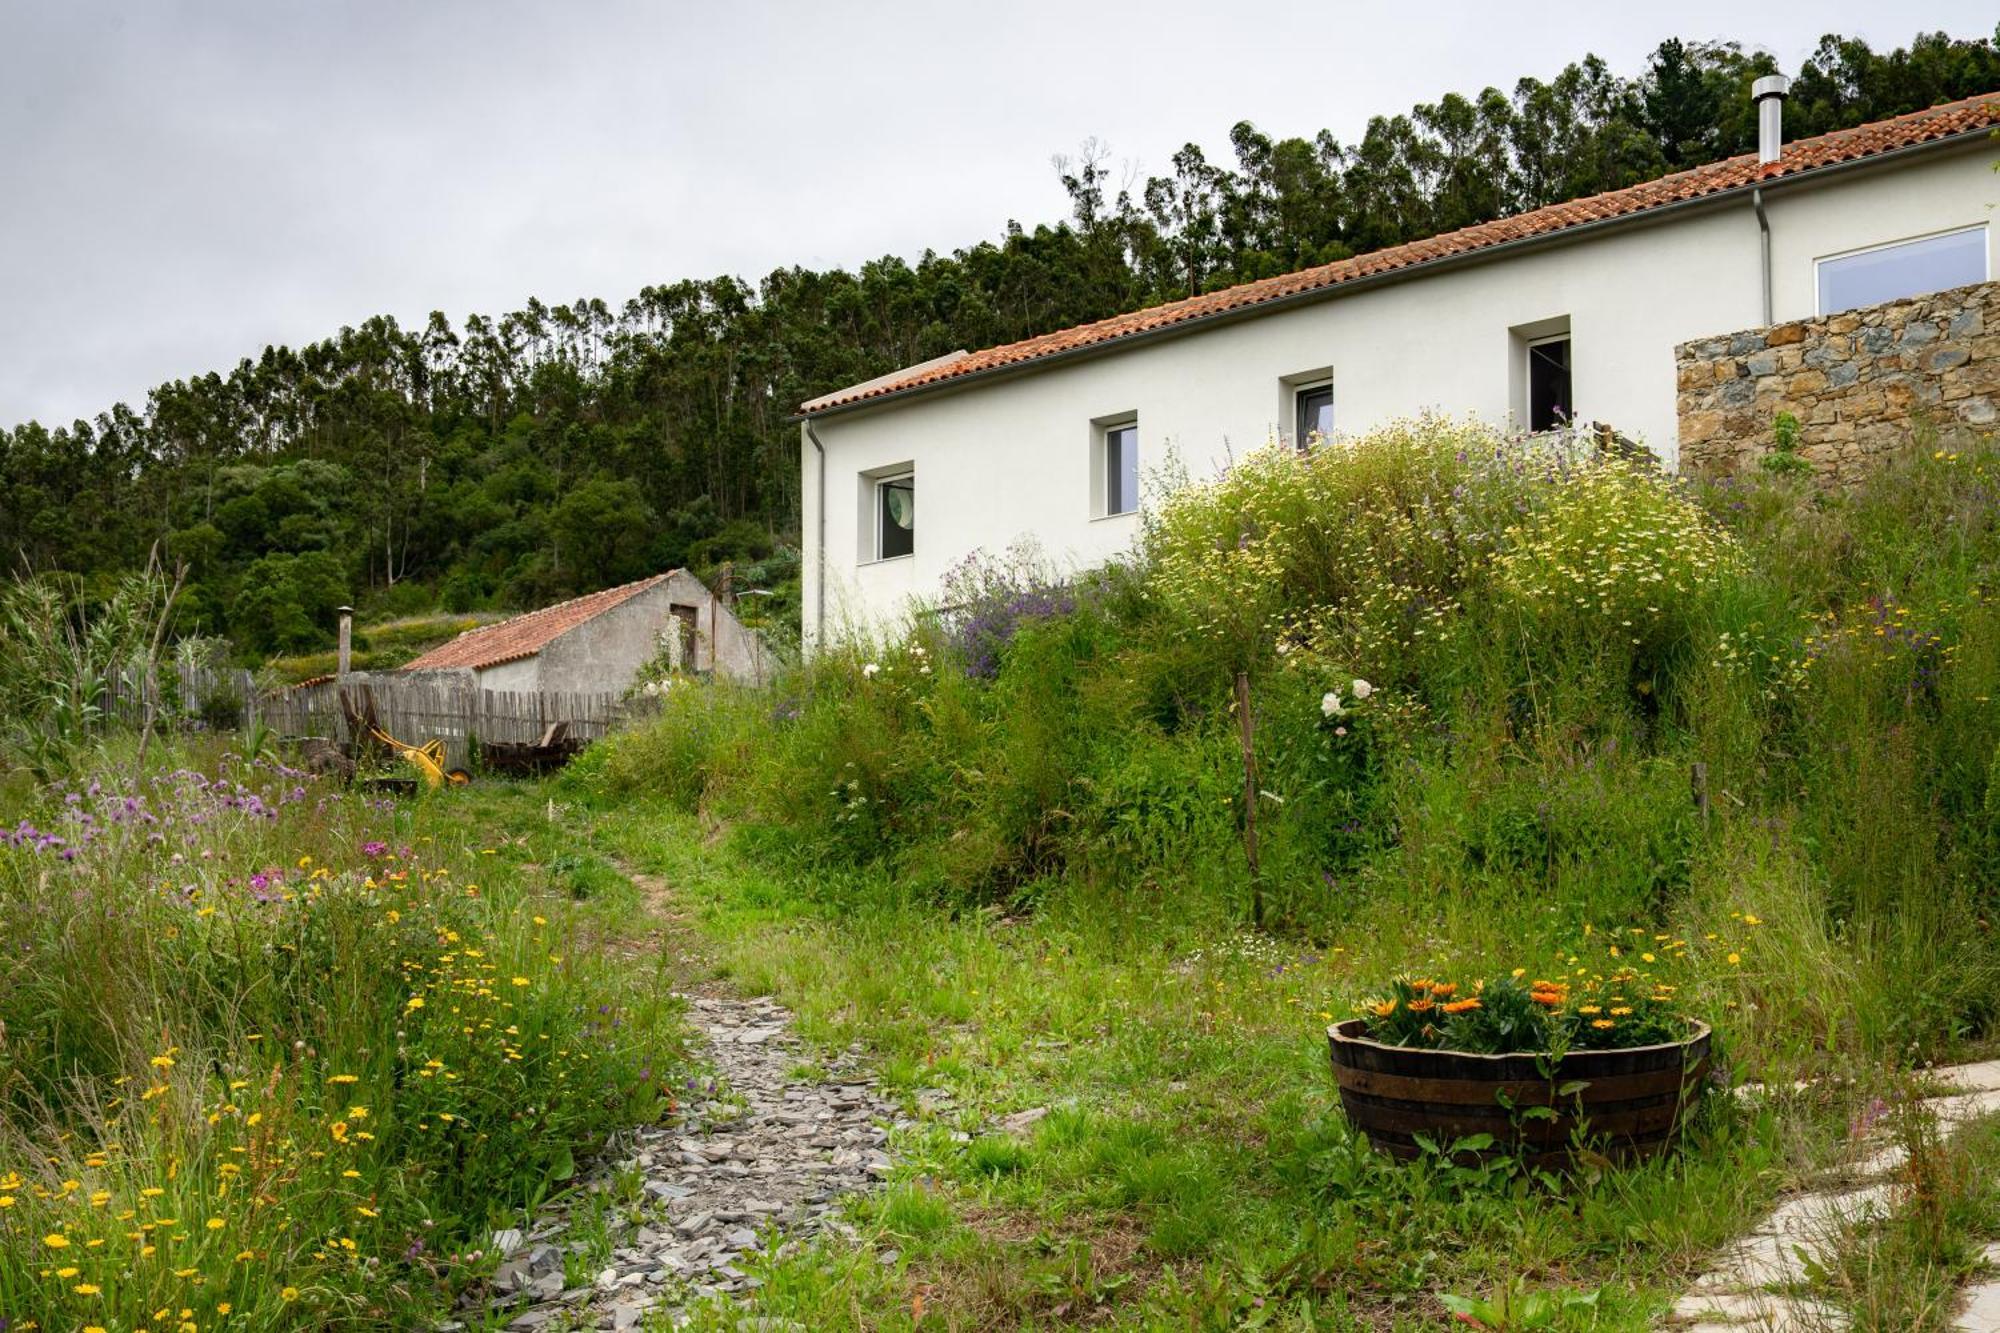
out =
[[[1632,214],[1652,212],[1668,204],[1690,202],[1766,180],[1784,180],[1788,176],[1808,174],[1842,162],[1856,162],[1896,152],[1900,148],[1916,148],[1918,144],[1990,130],[1994,126],[2000,126],[2000,92],[1986,92],[1960,102],[1946,102],[1942,106],[1932,106],[1930,110],[1912,112],[1908,116],[1876,120],[1852,130],[1820,134],[1818,138],[1802,138],[1786,144],[1782,158],[1768,166],[1758,164],[1756,154],[1752,152],[1726,158],[1722,162],[1710,162],[1708,166],[1674,172],[1672,176],[1660,176],[1658,180],[1648,180],[1636,186],[1626,186],[1624,190],[1592,194],[1566,204],[1550,204],[1532,212],[1514,214],[1512,218],[1480,222],[1478,226],[1466,226],[1456,232],[1444,232],[1442,236],[1430,236],[1426,240],[1412,240],[1408,244],[1374,250],[1370,254],[1356,254],[1354,258],[1320,264],[1318,268],[1304,268],[1278,278],[1244,282],[1220,292],[1206,292],[1202,296],[1190,296],[1188,300],[1174,300],[1164,306],[1118,314],[1094,324],[1078,324],[1076,328],[1064,328],[1038,338],[1008,342],[1006,346],[986,348],[984,352],[972,352],[970,356],[952,354],[938,358],[936,362],[910,366],[904,372],[886,374],[876,380],[814,398],[800,406],[800,414],[814,416],[872,398],[906,394],[916,388],[946,384],[982,370],[1018,366],[1062,352],[1076,352],[1096,344],[1116,342],[1134,334],[1160,332],[1172,328],[1174,324],[1248,310],[1274,300],[1306,296],[1310,292],[1336,288],[1358,278],[1374,278],[1404,268],[1418,268],[1422,264],[1488,250],[1512,240],[1556,236],[1592,222],[1628,218]]]

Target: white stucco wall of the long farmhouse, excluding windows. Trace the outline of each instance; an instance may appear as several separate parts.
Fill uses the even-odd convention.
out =
[[[2000,178],[1990,144],[1934,150],[1822,180],[1766,188],[1778,320],[1814,314],[1824,254],[1988,222],[2000,254]],[[1990,254],[1990,262],[1994,256]],[[1136,414],[1140,460],[1168,454],[1194,476],[1290,432],[1288,376],[1332,368],[1334,426],[1358,434],[1426,410],[1506,424],[1520,416],[1522,344],[1512,330],[1568,320],[1572,392],[1600,420],[1676,458],[1674,344],[1764,322],[1748,196],[1484,262],[1366,286],[1232,324],[1140,342],[1008,378],[814,418],[826,448],[820,586],[820,458],[802,438],[804,618],[824,632],[892,624],[910,596],[972,550],[1032,536],[1088,566],[1126,550],[1138,516],[1092,516],[1094,422]],[[916,552],[866,560],[864,480],[916,472]]]

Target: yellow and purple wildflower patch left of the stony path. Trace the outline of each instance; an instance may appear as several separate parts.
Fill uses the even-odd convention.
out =
[[[8,1327],[408,1327],[494,1217],[654,1115],[662,1011],[506,879],[274,765],[94,783],[16,827]]]

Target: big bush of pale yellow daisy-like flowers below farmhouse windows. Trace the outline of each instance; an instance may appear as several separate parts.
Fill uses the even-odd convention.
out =
[[[1448,654],[1472,600],[1514,634],[1524,610],[1658,654],[1742,570],[1656,470],[1440,418],[1258,450],[1166,496],[1146,552],[1182,630],[1238,662],[1296,644],[1404,685]]]

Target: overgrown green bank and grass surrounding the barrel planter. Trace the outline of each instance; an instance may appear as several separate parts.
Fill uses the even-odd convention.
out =
[[[696,895],[740,985],[952,1091],[966,1135],[904,1145],[958,1219],[874,1219],[904,1283],[828,1259],[764,1303],[896,1327],[928,1283],[960,1327],[1430,1327],[1442,1295],[1560,1289],[1600,1295],[1548,1327],[1644,1327],[1838,1155],[1848,1093],[1718,1101],[1648,1167],[1474,1181],[1358,1145],[1322,1029],[1398,975],[1650,951],[1732,1079],[1844,1089],[1988,1041],[1996,484],[1980,440],[1822,494],[1412,422],[1184,488],[1068,584],[988,566],[774,695],[676,693],[560,791],[616,803],[594,837]]]

